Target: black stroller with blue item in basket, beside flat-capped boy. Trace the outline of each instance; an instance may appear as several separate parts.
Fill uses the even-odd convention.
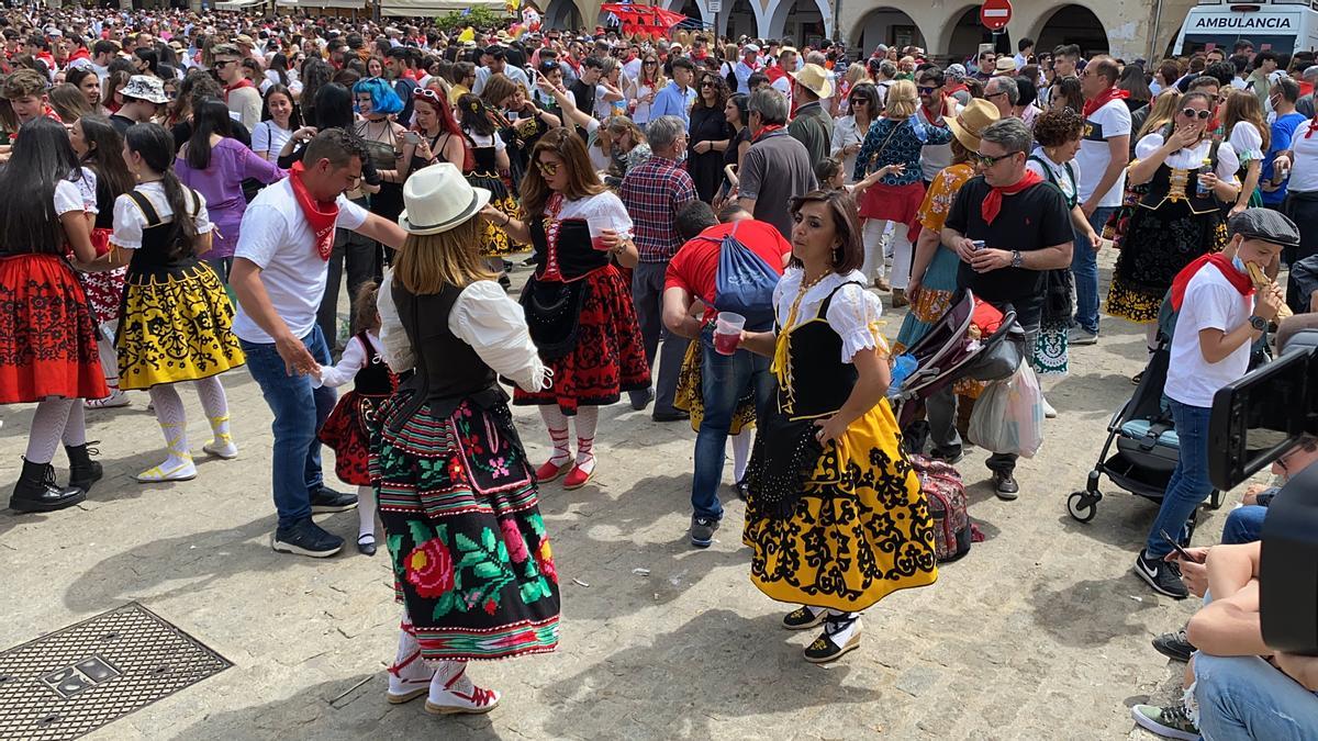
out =
[[[1162,386],[1166,384],[1170,357],[1170,340],[1162,335],[1157,351],[1144,368],[1135,394],[1107,423],[1107,442],[1103,443],[1098,464],[1089,472],[1085,490],[1074,492],[1066,498],[1066,512],[1079,522],[1094,519],[1098,512],[1098,501],[1103,498],[1103,492],[1098,489],[1102,476],[1107,476],[1132,494],[1155,502],[1162,501],[1172,472],[1176,471],[1181,458],[1176,425],[1162,401]],[[1116,451],[1111,452],[1114,444]],[[1209,509],[1222,506],[1222,492],[1214,489],[1206,506]],[[1182,543],[1190,542],[1198,517],[1199,510],[1195,508],[1186,530],[1181,533]]]

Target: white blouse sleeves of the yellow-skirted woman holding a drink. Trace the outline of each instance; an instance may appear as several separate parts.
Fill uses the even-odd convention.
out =
[[[829,303],[828,314],[824,316],[829,327],[842,338],[842,363],[850,363],[855,353],[862,349],[880,348],[887,352],[883,335],[879,334],[879,316],[883,314],[883,305],[878,295],[865,290],[869,282],[859,270],[851,270],[846,276],[830,273],[811,286],[801,297],[795,323],[788,327],[787,320],[792,311],[792,303],[796,302],[796,294],[801,289],[804,274],[805,272],[800,268],[788,268],[774,289],[774,309],[778,311],[778,323],[783,327],[782,331],[815,319],[824,299],[833,293],[833,289],[851,282],[837,291]]]

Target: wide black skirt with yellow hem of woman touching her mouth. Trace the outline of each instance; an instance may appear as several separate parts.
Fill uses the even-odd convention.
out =
[[[1107,312],[1143,324],[1157,322],[1176,274],[1194,258],[1220,252],[1226,244],[1220,211],[1194,214],[1185,202],[1137,207],[1112,270]]]

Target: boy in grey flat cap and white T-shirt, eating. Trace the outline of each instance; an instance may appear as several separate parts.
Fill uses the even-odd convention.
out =
[[[1189,596],[1173,552],[1162,538],[1178,538],[1194,509],[1209,498],[1209,418],[1218,389],[1246,374],[1249,347],[1277,316],[1285,297],[1275,283],[1255,294],[1247,264],[1260,269],[1284,247],[1300,244],[1294,222],[1268,208],[1248,208],[1227,224],[1231,241],[1214,256],[1191,262],[1172,282],[1172,309],[1178,311],[1164,394],[1172,406],[1180,459],[1135,574],[1153,591],[1178,600]],[[1252,312],[1251,312],[1252,307]]]

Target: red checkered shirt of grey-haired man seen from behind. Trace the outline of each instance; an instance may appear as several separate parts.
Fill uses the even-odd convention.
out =
[[[672,160],[650,157],[622,178],[618,195],[631,215],[631,236],[642,262],[667,262],[681,240],[673,220],[677,210],[696,200],[696,183]]]

